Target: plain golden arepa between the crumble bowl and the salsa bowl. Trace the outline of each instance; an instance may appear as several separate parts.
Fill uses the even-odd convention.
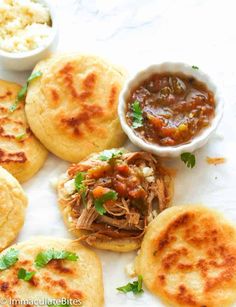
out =
[[[45,147],[71,162],[125,141],[118,115],[124,73],[96,56],[55,55],[39,62],[26,115]]]

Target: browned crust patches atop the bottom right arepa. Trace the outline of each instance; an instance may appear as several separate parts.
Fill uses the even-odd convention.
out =
[[[235,282],[236,246],[229,244],[230,232],[233,234],[230,227],[218,225],[214,216],[199,219],[198,213],[186,212],[173,218],[152,242],[153,258],[161,259],[161,267],[152,285],[153,291],[156,292],[158,287],[165,289],[168,275],[177,272],[180,276],[188,272],[199,272],[203,283],[202,295],[206,298],[222,286],[227,287]],[[179,236],[186,247],[177,244]],[[202,257],[194,259],[188,246],[195,251],[202,251]],[[218,272],[216,276],[211,276],[212,271]],[[191,287],[184,283],[176,284],[176,287],[173,293],[163,290],[171,301],[177,302],[178,306],[201,306],[201,300]]]

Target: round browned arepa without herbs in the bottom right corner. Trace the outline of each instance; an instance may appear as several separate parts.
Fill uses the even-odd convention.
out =
[[[135,269],[168,306],[230,306],[236,300],[236,229],[202,206],[166,209],[148,226]]]

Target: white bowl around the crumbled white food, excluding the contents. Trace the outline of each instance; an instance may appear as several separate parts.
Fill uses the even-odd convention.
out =
[[[48,0],[37,0],[49,8],[52,20],[52,33],[47,44],[30,51],[6,52],[0,49],[0,65],[9,70],[31,70],[40,60],[46,58],[56,48],[58,41],[58,27],[54,8]]]

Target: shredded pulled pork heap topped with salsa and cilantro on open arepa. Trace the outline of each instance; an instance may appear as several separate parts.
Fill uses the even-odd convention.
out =
[[[96,154],[69,168],[67,182],[75,180],[76,189],[66,195],[67,205],[89,240],[139,239],[168,206],[171,176],[147,152],[119,151],[109,157]],[[79,185],[78,174],[83,177]]]

